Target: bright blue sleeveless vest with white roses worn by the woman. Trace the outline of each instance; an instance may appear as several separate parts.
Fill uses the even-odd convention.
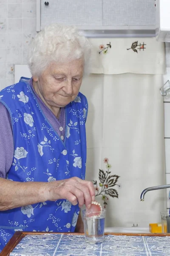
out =
[[[50,182],[85,179],[85,121],[88,103],[82,93],[65,107],[63,142],[42,113],[27,78],[0,92],[14,136],[14,157],[7,179]],[[46,201],[0,212],[0,250],[15,231],[74,232],[78,205],[67,200]]]

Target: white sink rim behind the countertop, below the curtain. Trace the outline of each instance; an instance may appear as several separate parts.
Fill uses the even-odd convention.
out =
[[[150,233],[149,227],[105,227],[105,233]]]

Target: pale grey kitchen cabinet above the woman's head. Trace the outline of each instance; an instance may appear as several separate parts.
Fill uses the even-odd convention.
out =
[[[155,26],[156,0],[37,0],[37,29],[51,23],[79,29]]]

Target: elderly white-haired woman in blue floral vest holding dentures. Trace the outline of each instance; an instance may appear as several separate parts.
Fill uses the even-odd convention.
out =
[[[32,78],[0,92],[0,249],[17,230],[83,231],[88,102],[79,89],[91,45],[68,26],[34,38]],[[78,221],[77,221],[78,219]]]

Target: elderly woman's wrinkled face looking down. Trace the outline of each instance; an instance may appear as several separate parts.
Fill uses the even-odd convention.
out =
[[[51,63],[39,77],[34,76],[34,87],[46,105],[62,108],[72,102],[82,83],[83,58],[66,63]]]

